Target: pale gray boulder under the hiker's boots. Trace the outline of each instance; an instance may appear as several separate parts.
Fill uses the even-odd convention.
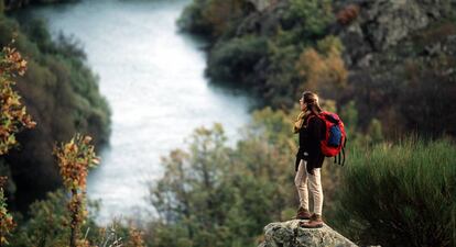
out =
[[[264,227],[264,242],[259,247],[356,247],[354,243],[324,225],[308,229],[300,221],[276,222]]]

